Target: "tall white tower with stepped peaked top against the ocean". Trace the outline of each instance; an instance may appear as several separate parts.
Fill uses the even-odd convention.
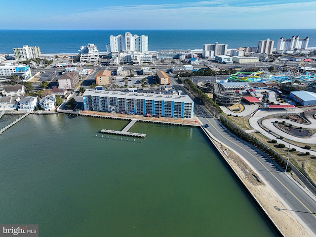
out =
[[[124,35],[110,36],[110,45],[107,46],[107,51],[138,51],[148,52],[148,36],[132,35],[125,32]]]

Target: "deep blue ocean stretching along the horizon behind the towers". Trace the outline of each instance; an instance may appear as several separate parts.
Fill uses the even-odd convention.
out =
[[[227,44],[228,48],[257,47],[259,40],[276,42],[295,36],[310,37],[309,47],[316,47],[315,29],[286,30],[0,30],[0,53],[13,53],[23,45],[39,46],[42,53],[78,53],[80,46],[95,44],[106,51],[110,35],[130,32],[148,35],[149,50],[201,49],[203,44]]]

